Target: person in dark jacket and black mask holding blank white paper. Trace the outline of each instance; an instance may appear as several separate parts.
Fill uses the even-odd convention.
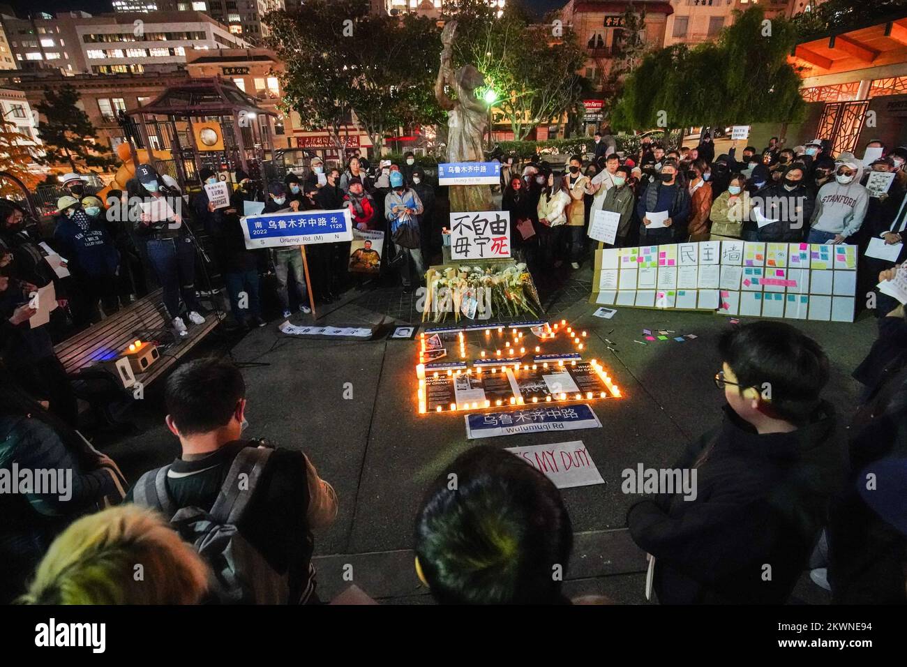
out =
[[[678,177],[678,162],[666,160],[658,177],[658,181],[649,183],[649,187],[642,192],[636,206],[641,221],[640,245],[677,243],[678,240],[687,240],[688,237],[690,199],[686,186]],[[653,224],[648,217],[649,211],[667,213],[667,218],[658,227],[649,230],[649,226]]]

